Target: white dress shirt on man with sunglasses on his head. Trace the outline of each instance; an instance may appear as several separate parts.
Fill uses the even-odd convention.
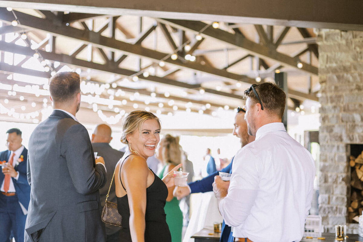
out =
[[[253,242],[300,241],[311,207],[314,160],[282,123],[257,130],[233,160],[228,194],[219,205],[233,237]]]

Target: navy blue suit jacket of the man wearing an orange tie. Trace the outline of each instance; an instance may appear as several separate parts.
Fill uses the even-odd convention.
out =
[[[1,151],[0,152],[0,161],[8,161],[11,151]],[[23,152],[21,153],[23,155],[23,162],[20,162],[17,167],[15,167],[15,171],[19,172],[19,179],[15,180],[13,177],[11,178],[13,180],[13,184],[15,187],[15,191],[17,194],[17,197],[19,199],[19,202],[21,205],[28,210],[29,201],[30,201],[30,186],[28,183],[28,178],[26,176],[26,162],[28,158],[28,150],[24,147]],[[16,161],[13,161],[16,162]],[[0,182],[2,183],[5,178],[5,175],[3,172],[0,172]]]

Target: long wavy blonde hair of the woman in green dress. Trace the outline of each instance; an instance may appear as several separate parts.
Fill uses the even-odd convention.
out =
[[[179,136],[166,134],[160,141],[162,159],[164,163],[178,165],[181,163],[181,147],[179,145]]]

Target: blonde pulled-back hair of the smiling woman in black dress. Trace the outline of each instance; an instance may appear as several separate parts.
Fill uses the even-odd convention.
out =
[[[127,117],[123,120],[121,142],[124,144],[129,144],[126,136],[132,134],[132,132],[134,132],[135,130],[139,130],[141,135],[142,124],[147,119],[155,119],[156,121],[158,121],[159,128],[161,128],[159,118],[156,117],[153,113],[140,110],[130,112],[130,114],[127,115]]]

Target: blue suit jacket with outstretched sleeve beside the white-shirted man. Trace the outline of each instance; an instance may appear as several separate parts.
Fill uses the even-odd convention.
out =
[[[234,159],[234,157],[232,158],[231,163],[229,163],[229,165],[227,167],[223,168],[221,170],[221,172],[232,173],[233,159]],[[212,184],[214,182],[214,177],[218,176],[218,175],[219,175],[219,172],[216,171],[216,172],[212,173],[211,175],[203,178],[202,180],[191,182],[188,185],[189,185],[192,193],[211,192],[211,191],[213,191]],[[230,234],[231,234],[231,227],[226,225],[223,221],[220,242],[227,242]]]

